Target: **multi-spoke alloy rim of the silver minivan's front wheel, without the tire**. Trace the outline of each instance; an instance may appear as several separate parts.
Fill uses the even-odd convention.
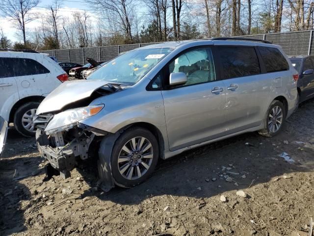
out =
[[[118,157],[120,174],[129,180],[142,177],[153,162],[153,146],[144,137],[134,137],[124,144]]]

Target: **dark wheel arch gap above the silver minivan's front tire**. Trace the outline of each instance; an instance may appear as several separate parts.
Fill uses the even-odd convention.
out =
[[[165,159],[165,155],[164,155],[165,142],[164,142],[162,133],[160,132],[160,130],[155,125],[153,125],[151,123],[147,123],[147,122],[135,122],[135,123],[131,123],[131,124],[123,127],[122,129],[120,129],[120,131],[126,130],[130,127],[141,127],[141,128],[145,128],[145,129],[149,130],[150,132],[152,132],[152,134],[157,138],[158,148],[159,148],[159,157],[161,159]]]

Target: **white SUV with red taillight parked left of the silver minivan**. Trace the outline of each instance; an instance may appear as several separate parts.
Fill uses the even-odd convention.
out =
[[[65,71],[46,54],[31,50],[0,51],[0,117],[24,136],[34,136],[39,103],[67,81]]]

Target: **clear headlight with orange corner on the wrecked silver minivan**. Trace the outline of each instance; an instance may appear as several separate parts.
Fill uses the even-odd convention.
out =
[[[55,115],[48,123],[45,132],[47,135],[71,129],[80,120],[91,117],[99,113],[104,104],[70,109]]]

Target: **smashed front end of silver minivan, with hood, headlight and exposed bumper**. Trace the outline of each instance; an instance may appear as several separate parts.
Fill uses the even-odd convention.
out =
[[[99,147],[112,134],[84,121],[104,116],[105,104],[90,105],[95,99],[122,90],[120,85],[100,81],[63,84],[44,99],[33,120],[38,149],[50,163],[46,167],[46,180],[59,173],[64,178],[71,177],[71,171],[81,160],[99,162],[104,155],[110,157]],[[106,164],[102,166],[99,183],[101,188],[106,185],[109,190],[113,187],[111,170]]]

